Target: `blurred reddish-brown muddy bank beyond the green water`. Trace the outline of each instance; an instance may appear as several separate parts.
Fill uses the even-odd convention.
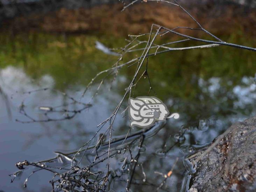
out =
[[[2,30],[44,31],[50,33],[102,33],[127,35],[147,33],[152,23],[168,28],[197,27],[178,7],[164,3],[140,3],[121,12],[122,3],[92,8],[61,8],[48,13],[33,13],[6,20]],[[256,10],[242,6],[215,5],[185,7],[196,19],[215,35],[241,34],[256,36]],[[187,31],[198,35],[198,31]],[[194,33],[194,34],[193,34]]]

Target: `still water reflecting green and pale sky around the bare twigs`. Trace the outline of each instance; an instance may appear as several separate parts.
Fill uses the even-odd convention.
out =
[[[243,37],[241,33],[223,36],[222,39],[256,47],[255,37]],[[95,49],[96,40],[108,47],[126,44],[123,38],[108,36],[0,35],[0,190],[50,191],[48,181],[52,175],[46,171],[31,176],[26,189],[22,187],[23,182],[33,170],[24,171],[13,183],[10,183],[11,177],[8,175],[17,171],[15,163],[18,161],[26,159],[35,162],[54,157],[54,151],[80,147],[90,140],[97,130],[96,126],[108,118],[118,105],[136,66],[121,69],[115,81],[107,79],[91,101],[92,106],[71,120],[41,123],[15,121],[28,120],[19,113],[22,103],[29,115],[40,120],[45,116],[38,107],[71,102],[61,92],[80,98],[95,74],[111,67],[118,59]],[[124,60],[128,61],[133,56],[135,54]],[[159,185],[163,177],[155,171],[166,174],[176,157],[179,157],[165,189],[180,190],[186,172],[182,161],[184,156],[211,142],[233,122],[255,115],[255,61],[254,52],[229,47],[176,51],[150,58],[148,74],[156,97],[164,101],[171,113],[179,113],[180,118],[168,120],[164,128],[145,141],[145,152],[139,163],[143,163],[147,182]],[[99,83],[88,90],[83,102],[91,100]],[[41,88],[49,89],[33,92]],[[148,79],[142,78],[136,87],[135,97],[146,95],[148,90]],[[154,95],[154,92],[151,91],[150,95]],[[126,108],[126,104],[127,100],[120,112]],[[71,108],[79,106],[71,105]],[[54,118],[63,116],[64,113],[57,114]],[[113,135],[126,134],[129,130],[128,119],[122,118],[119,113],[113,129]],[[182,137],[180,133],[183,133]],[[161,153],[163,148],[170,149],[166,155]],[[116,163],[119,161],[113,159],[113,169],[121,166]],[[97,168],[106,169],[105,164]],[[141,172],[139,167],[135,179],[143,179]],[[111,188],[125,191],[125,185],[125,180],[116,180]],[[139,188],[133,185],[131,189],[150,189],[148,186]]]

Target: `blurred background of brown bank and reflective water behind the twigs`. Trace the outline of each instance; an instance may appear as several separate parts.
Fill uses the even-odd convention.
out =
[[[124,2],[127,5],[131,1]],[[223,41],[256,47],[256,1],[179,2],[205,29]],[[15,178],[13,183],[8,175],[17,171],[15,163],[18,161],[39,161],[55,156],[56,150],[78,148],[94,135],[95,127],[118,105],[136,66],[121,69],[115,81],[111,78],[105,81],[105,86],[92,100],[92,106],[71,120],[15,121],[27,120],[19,113],[21,105],[26,106],[28,114],[35,119],[45,118],[38,110],[40,106],[68,105],[69,98],[58,91],[79,98],[99,71],[117,61],[118,57],[96,49],[95,41],[120,48],[127,44],[128,34],[148,33],[152,23],[168,28],[196,27],[184,12],[166,3],[136,3],[121,11],[123,6],[117,0],[0,1],[0,191],[50,191],[48,181],[52,175],[48,172],[35,173],[27,188],[23,188],[23,182],[29,171]],[[198,31],[186,33],[211,39]],[[177,36],[165,35],[157,42],[177,39]],[[191,46],[191,42],[183,45]],[[124,61],[137,54],[127,55]],[[145,144],[141,161],[148,180],[160,184],[162,178],[154,171],[170,170],[178,156],[180,161],[167,185],[172,191],[179,191],[186,172],[182,163],[184,156],[211,142],[233,122],[255,115],[255,62],[255,52],[225,46],[176,51],[150,58],[148,73],[156,97],[171,113],[178,112],[180,118],[170,120],[154,142]],[[98,83],[86,93],[84,102],[90,101]],[[148,87],[147,79],[141,80],[135,96],[147,94],[145,87]],[[58,114],[58,117],[63,115]],[[179,131],[184,128],[188,131],[178,138],[178,144],[167,156],[157,154],[164,144],[176,143]],[[114,135],[127,133],[128,120],[121,114],[114,130]],[[143,187],[141,191],[147,189]],[[114,183],[113,190],[125,191],[125,188]]]

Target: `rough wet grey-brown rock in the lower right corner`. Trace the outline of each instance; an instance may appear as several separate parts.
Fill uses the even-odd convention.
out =
[[[256,191],[256,116],[228,130],[207,154],[190,159],[196,172],[189,191]]]

